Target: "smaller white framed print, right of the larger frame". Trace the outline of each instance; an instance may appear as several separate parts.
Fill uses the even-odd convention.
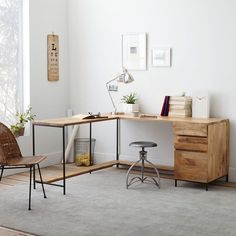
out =
[[[170,67],[171,66],[171,48],[158,47],[152,49],[152,66]]]

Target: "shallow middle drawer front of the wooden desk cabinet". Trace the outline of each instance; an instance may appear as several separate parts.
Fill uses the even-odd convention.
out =
[[[205,137],[175,136],[175,149],[207,152],[208,140]]]

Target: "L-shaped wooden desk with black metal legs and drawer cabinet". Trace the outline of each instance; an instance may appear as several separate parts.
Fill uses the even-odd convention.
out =
[[[35,126],[57,127],[62,129],[63,145],[63,184],[53,184],[63,187],[66,194],[66,163],[65,163],[65,128],[72,125],[89,124],[90,155],[92,139],[92,123],[116,121],[116,160],[111,165],[122,164],[119,160],[119,129],[120,120],[143,122],[170,122],[174,132],[174,179],[200,182],[206,184],[226,177],[229,169],[229,120],[221,118],[177,118],[177,117],[132,117],[128,115],[111,115],[105,118],[82,119],[66,117],[58,119],[37,120],[33,122],[33,155],[35,155]],[[90,158],[91,160],[91,158]],[[110,164],[107,167],[111,166]],[[106,165],[104,165],[106,167]],[[100,168],[93,168],[94,170]],[[35,178],[35,175],[34,175]]]

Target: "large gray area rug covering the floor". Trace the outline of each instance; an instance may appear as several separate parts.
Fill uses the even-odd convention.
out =
[[[28,211],[28,185],[0,193],[0,224],[37,235],[165,236],[236,235],[236,190],[192,183],[175,188],[161,179],[125,188],[125,172],[116,168],[68,179],[62,188],[33,191]]]

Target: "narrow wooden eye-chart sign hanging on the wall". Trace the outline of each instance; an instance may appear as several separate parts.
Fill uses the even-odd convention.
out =
[[[59,80],[59,37],[48,35],[48,81]]]

